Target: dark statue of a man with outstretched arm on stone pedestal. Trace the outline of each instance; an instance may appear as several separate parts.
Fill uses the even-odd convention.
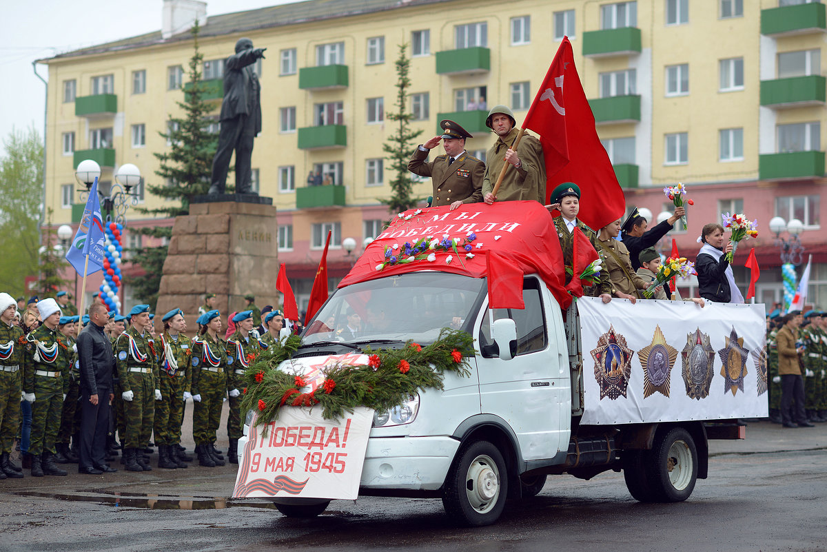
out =
[[[209,195],[224,193],[232,150],[236,151],[236,193],[251,190],[250,159],[253,139],[261,132],[261,85],[252,64],[264,59],[266,48],[253,49],[253,41],[240,38],[236,53],[224,62],[224,100],[221,104],[221,132],[213,158]]]

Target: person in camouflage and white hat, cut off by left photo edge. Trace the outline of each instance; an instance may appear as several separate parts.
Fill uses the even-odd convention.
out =
[[[0,293],[0,479],[23,477],[23,470],[9,458],[20,423],[21,369],[26,338],[12,322],[17,302]]]

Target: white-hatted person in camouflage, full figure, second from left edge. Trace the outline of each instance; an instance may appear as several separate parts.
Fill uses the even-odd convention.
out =
[[[57,332],[60,307],[55,299],[37,303],[43,324],[26,337],[23,398],[31,403],[31,475],[66,475],[55,464],[55,440],[69,379],[69,347]]]

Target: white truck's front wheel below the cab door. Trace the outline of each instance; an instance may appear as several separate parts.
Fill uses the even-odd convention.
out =
[[[448,471],[442,507],[466,526],[487,526],[500,518],[508,496],[503,455],[486,440],[467,445]]]

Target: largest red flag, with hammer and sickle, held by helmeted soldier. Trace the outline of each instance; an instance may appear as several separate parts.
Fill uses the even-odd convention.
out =
[[[540,135],[546,161],[546,202],[552,190],[573,182],[581,190],[577,218],[595,231],[624,215],[626,201],[609,155],[600,143],[595,116],[563,37],[523,128]]]

